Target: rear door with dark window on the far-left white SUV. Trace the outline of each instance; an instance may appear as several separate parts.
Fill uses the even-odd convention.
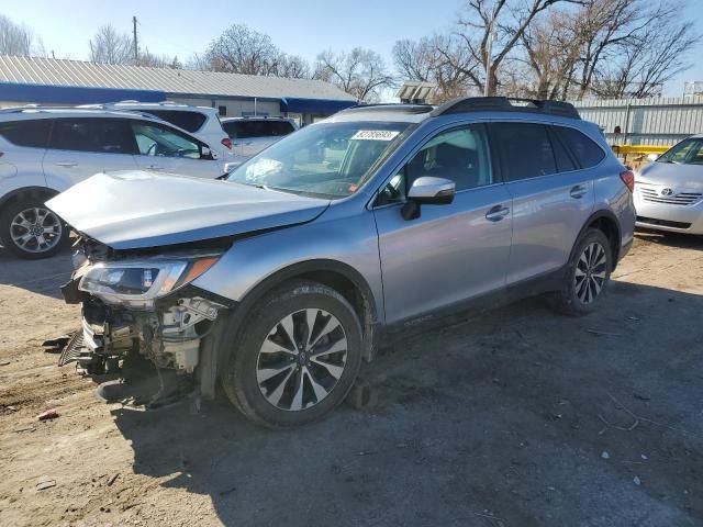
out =
[[[69,187],[98,172],[134,170],[135,148],[126,119],[56,119],[43,161],[47,183]]]

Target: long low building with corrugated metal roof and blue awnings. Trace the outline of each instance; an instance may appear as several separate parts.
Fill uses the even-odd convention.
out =
[[[0,106],[124,100],[169,100],[217,108],[223,116],[287,115],[302,123],[356,104],[321,80],[0,56]]]

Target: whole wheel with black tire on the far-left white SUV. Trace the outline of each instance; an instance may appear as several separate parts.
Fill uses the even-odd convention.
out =
[[[43,248],[42,244],[36,242],[37,238],[33,238],[25,246],[21,246],[14,240],[12,235],[15,233],[14,237],[16,237],[16,233],[22,232],[21,229],[24,228],[13,224],[15,218],[18,218],[18,215],[24,211],[34,210],[41,211],[42,214],[46,213],[46,223],[44,223],[44,225],[51,225],[53,228],[53,232],[46,233],[48,236],[44,238],[51,238],[51,243],[46,244],[45,248]],[[34,217],[35,216],[30,212],[27,218],[32,221]],[[60,217],[46,208],[42,198],[26,198],[18,200],[8,204],[0,213],[0,243],[10,253],[26,260],[38,260],[41,258],[54,256],[68,245],[69,235],[70,229],[68,226]]]

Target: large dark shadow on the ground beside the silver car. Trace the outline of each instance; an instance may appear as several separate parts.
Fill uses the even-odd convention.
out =
[[[626,282],[583,318],[524,301],[387,350],[373,411],[297,430],[223,395],[113,417],[135,473],[209,495],[227,526],[701,525],[701,312]]]

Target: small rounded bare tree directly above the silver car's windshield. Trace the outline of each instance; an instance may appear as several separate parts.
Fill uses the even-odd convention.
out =
[[[361,47],[348,53],[321,53],[317,55],[314,78],[332,82],[365,102],[378,100],[380,90],[393,85],[393,77],[381,56]]]

